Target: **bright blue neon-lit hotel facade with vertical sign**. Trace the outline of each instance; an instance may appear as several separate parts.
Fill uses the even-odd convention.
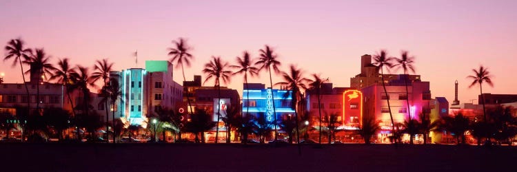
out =
[[[264,85],[252,83],[250,83],[250,88],[244,88],[243,114],[255,117],[265,116],[265,119],[268,122],[274,121],[274,115],[276,115],[277,119],[282,119],[288,115],[294,115],[294,109],[291,108],[291,92],[281,89],[265,89]],[[274,114],[274,112],[276,112],[276,114]]]

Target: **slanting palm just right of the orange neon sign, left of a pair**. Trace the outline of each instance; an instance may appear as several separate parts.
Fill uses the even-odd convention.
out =
[[[386,102],[388,104],[388,110],[389,110],[389,118],[392,120],[392,133],[395,135],[395,122],[393,120],[392,115],[392,107],[389,106],[389,94],[387,94],[386,91],[386,85],[384,83],[384,68],[386,68],[388,71],[393,67],[392,61],[394,60],[393,57],[388,57],[386,50],[381,50],[381,52],[378,52],[374,56],[374,65],[377,66],[377,70],[381,70],[381,80],[383,82],[383,89],[384,89],[384,96],[386,96]],[[396,142],[396,140],[395,140]]]

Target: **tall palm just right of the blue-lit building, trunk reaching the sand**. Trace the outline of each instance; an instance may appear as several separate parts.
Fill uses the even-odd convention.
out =
[[[303,72],[301,69],[297,69],[296,66],[291,65],[290,66],[290,73],[287,74],[286,72],[282,72],[282,78],[283,82],[276,83],[275,85],[284,85],[286,86],[287,94],[291,94],[292,100],[291,100],[291,109],[294,109],[294,118],[296,118],[296,142],[298,143],[298,153],[301,153],[299,144],[300,144],[300,129],[298,127],[298,111],[297,111],[297,105],[298,100],[301,100],[302,89],[307,89],[307,86],[305,83],[308,81],[307,78],[304,78],[302,76]]]

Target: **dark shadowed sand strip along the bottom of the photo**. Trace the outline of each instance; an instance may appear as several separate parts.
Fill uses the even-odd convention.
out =
[[[517,147],[0,144],[0,171],[517,171]]]

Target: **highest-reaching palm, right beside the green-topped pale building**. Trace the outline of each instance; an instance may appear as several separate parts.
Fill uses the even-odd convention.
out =
[[[187,41],[183,38],[179,38],[178,41],[172,41],[174,47],[168,48],[168,55],[172,56],[170,59],[170,63],[175,63],[176,67],[181,66],[181,73],[183,74],[183,82],[187,81],[185,78],[185,68],[183,64],[187,67],[190,67],[190,61],[194,59],[194,56],[190,54],[191,47],[187,45]],[[187,94],[187,105],[190,109],[189,113],[192,113],[192,105],[190,105],[190,96],[188,94],[188,89],[185,88],[185,93]],[[192,114],[191,114],[192,115]]]

